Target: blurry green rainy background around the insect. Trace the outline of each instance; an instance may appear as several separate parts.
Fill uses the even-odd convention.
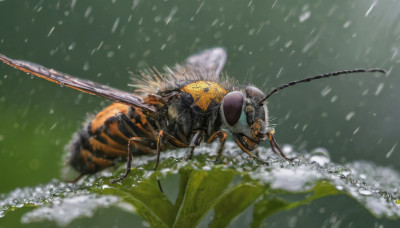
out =
[[[390,74],[281,91],[269,111],[280,144],[400,170],[399,12],[397,0],[4,0],[0,53],[125,90],[129,71],[213,46],[227,49],[225,72],[266,92],[315,74],[383,67]],[[0,193],[59,178],[64,145],[108,104],[0,64]]]

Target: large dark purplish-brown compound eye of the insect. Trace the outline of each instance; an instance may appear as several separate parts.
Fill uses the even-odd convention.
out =
[[[234,126],[240,119],[243,106],[243,95],[239,92],[229,93],[222,103],[226,122]]]

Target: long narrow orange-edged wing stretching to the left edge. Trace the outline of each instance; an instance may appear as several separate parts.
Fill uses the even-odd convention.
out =
[[[48,81],[57,83],[59,85],[67,86],[85,93],[104,97],[115,102],[143,108],[150,112],[156,112],[155,107],[143,104],[142,99],[140,97],[135,96],[131,93],[114,89],[109,86],[102,85],[89,80],[76,78],[53,69],[48,69],[36,63],[31,63],[24,60],[11,59],[2,54],[0,54],[0,60],[18,70],[22,70],[26,73],[33,74],[40,78],[44,78]]]

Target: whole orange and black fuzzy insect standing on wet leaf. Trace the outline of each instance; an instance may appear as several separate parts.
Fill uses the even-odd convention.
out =
[[[292,161],[279,148],[269,125],[266,101],[271,95],[316,79],[386,73],[379,68],[326,73],[283,84],[264,94],[253,85],[238,85],[228,76],[221,76],[226,58],[225,49],[215,47],[162,72],[147,69],[133,79],[134,94],[0,54],[0,60],[18,70],[114,102],[74,135],[68,158],[71,167],[80,173],[77,179],[126,161],[125,172],[111,183],[129,175],[134,156],[156,155],[156,170],[161,151],[168,148],[188,148],[186,159],[191,159],[201,142],[219,140],[219,161],[228,132],[238,147],[255,160],[267,164],[252,151],[268,140],[273,152]]]

